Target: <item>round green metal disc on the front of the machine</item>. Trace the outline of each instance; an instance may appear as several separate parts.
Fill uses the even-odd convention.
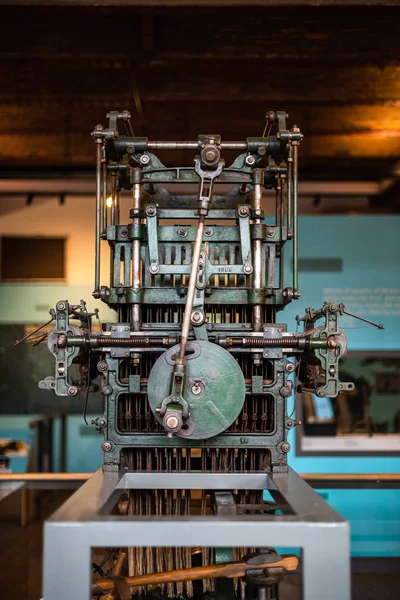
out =
[[[178,352],[179,345],[164,352],[150,372],[147,394],[160,423],[162,417],[156,409],[171,394]],[[227,350],[211,342],[188,342],[182,395],[189,405],[190,416],[176,435],[202,440],[222,433],[239,416],[245,394],[242,370]]]

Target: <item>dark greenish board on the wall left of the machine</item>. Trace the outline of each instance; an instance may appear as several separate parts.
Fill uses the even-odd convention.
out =
[[[41,379],[54,375],[55,360],[46,341],[38,346],[15,346],[27,330],[27,325],[0,325],[0,414],[47,414],[57,410],[83,413],[85,392],[62,397],[38,388]],[[102,413],[100,392],[89,394],[87,413]]]

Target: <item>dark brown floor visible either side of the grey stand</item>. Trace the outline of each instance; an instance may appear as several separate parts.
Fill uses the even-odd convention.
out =
[[[69,494],[67,491],[43,493],[38,507],[39,518],[25,528],[20,525],[21,493],[16,492],[0,503],[0,590],[3,600],[40,600],[43,520]],[[292,576],[281,586],[280,600],[300,598],[299,577]],[[352,600],[377,599],[400,600],[400,573],[353,575]]]

